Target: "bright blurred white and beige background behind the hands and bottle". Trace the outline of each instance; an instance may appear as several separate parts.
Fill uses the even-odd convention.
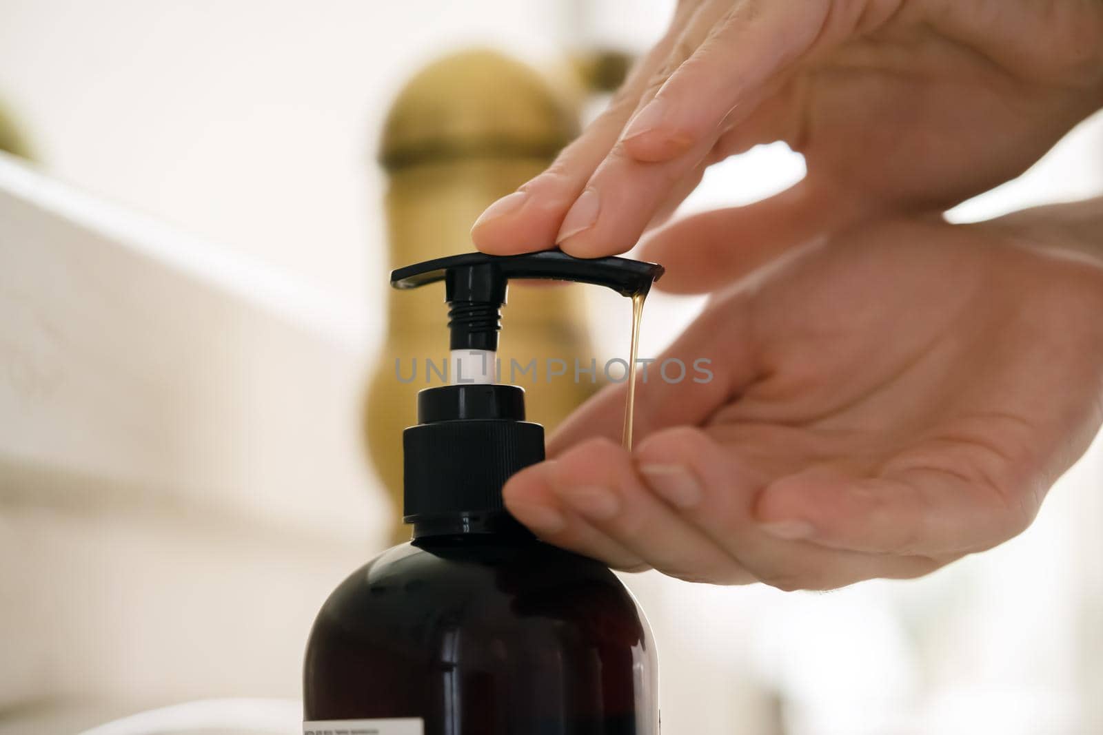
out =
[[[0,160],[0,267],[25,268],[0,280],[0,733],[299,696],[314,613],[387,543],[357,401],[383,336],[375,153],[395,93],[469,46],[540,69],[640,54],[671,10],[0,0],[0,109],[34,160]],[[802,173],[784,145],[761,147],[684,208],[751,202]],[[952,217],[1100,192],[1096,116]],[[110,306],[103,323],[84,293]],[[178,294],[175,311],[149,306],[168,322],[142,321]],[[649,300],[642,354],[699,307]],[[623,353],[628,316],[591,300],[599,349]],[[131,342],[147,329],[163,347]],[[660,644],[664,731],[1103,733],[1099,444],[1026,533],[919,581],[786,594],[627,575]]]

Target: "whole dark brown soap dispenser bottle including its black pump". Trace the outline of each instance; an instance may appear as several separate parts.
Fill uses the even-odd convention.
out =
[[[544,460],[524,390],[492,382],[510,279],[645,293],[662,268],[558,251],[464,253],[392,273],[445,281],[452,385],[418,393],[405,430],[413,539],[345,580],[307,646],[309,735],[657,735],[655,648],[617,576],[535,538],[505,480]]]

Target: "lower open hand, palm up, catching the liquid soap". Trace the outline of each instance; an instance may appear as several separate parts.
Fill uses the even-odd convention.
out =
[[[741,214],[784,221],[784,207]],[[827,239],[779,227],[790,255],[718,293],[658,358],[707,357],[714,379],[668,385],[652,366],[632,453],[625,386],[599,393],[506,505],[614,568],[783,590],[919,576],[996,545],[1103,421],[1100,233],[1103,199]],[[690,220],[643,256],[690,292],[718,266],[684,242],[742,237]]]

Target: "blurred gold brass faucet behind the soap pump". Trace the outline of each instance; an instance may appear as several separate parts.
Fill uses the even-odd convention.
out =
[[[450,55],[415,75],[390,109],[379,151],[388,176],[389,267],[472,250],[475,218],[540,173],[575,137],[581,87],[609,86],[610,75],[617,74],[615,58],[607,54],[572,60],[575,94],[555,90],[528,66],[486,50]],[[502,381],[510,381],[511,358],[521,366],[536,358],[539,383],[533,385],[532,374],[517,382],[532,386],[526,400],[529,420],[548,430],[598,388],[586,375],[574,380],[575,357],[588,364],[593,354],[582,294],[571,285],[510,289],[510,329],[499,353]],[[401,541],[409,537],[397,517],[401,432],[416,423],[417,391],[445,382],[437,374],[427,379],[425,360],[447,363],[448,329],[439,292],[406,292],[401,302],[393,298],[387,302],[386,342],[368,385],[364,430],[372,462],[396,508],[394,538]],[[548,381],[549,358],[566,360],[567,375]],[[404,382],[415,359],[415,379]]]

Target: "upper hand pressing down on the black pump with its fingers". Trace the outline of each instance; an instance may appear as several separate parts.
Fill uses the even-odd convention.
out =
[[[817,230],[940,212],[1101,104],[1100,0],[683,0],[609,109],[472,236],[624,252],[705,166],[779,140],[805,156],[792,216]]]

